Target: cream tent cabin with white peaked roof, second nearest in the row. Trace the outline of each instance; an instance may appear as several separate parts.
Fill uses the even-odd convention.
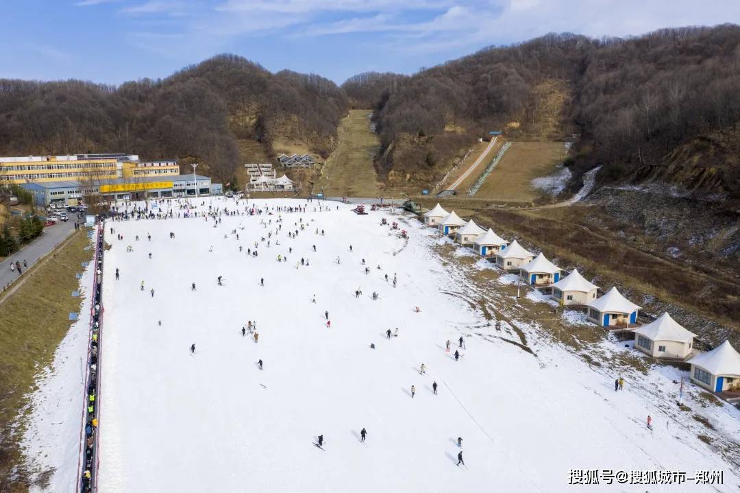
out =
[[[653,358],[685,359],[691,354],[696,334],[687,331],[667,312],[633,331],[635,348]]]

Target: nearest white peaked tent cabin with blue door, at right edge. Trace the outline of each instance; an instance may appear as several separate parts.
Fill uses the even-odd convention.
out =
[[[691,381],[712,392],[740,391],[740,354],[730,341],[691,360]]]

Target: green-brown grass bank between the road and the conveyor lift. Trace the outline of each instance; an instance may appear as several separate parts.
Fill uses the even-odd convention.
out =
[[[41,369],[53,362],[56,347],[78,312],[82,298],[73,298],[78,287],[75,274],[81,262],[92,260],[87,232],[70,240],[43,264],[27,273],[24,283],[0,305],[0,492],[26,492],[29,478],[19,449],[24,431],[11,429]]]

